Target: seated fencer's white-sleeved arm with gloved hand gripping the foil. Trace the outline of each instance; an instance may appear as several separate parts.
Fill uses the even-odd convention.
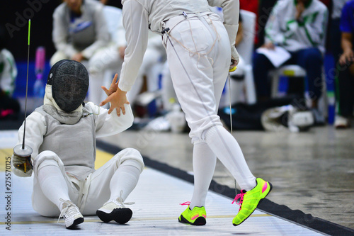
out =
[[[23,143],[24,124],[18,129],[17,145]],[[11,157],[11,169],[13,174],[20,177],[29,177],[32,175],[33,162],[38,155],[38,150],[43,142],[43,137],[46,133],[47,125],[44,116],[38,112],[33,112],[26,118],[25,125],[25,145],[29,146],[33,152],[30,157],[19,157],[13,154]]]

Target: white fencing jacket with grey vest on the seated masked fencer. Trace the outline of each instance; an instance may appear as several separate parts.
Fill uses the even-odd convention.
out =
[[[94,172],[96,137],[115,135],[126,130],[134,120],[130,105],[125,115],[117,116],[89,102],[82,109],[83,116],[74,125],[62,124],[53,116],[37,108],[26,118],[25,145],[32,148],[33,165],[38,154],[45,150],[55,152],[64,163],[65,171],[84,180]],[[23,141],[23,125],[18,130],[18,145]],[[16,171],[13,171],[16,174]],[[19,176],[22,173],[20,172]]]

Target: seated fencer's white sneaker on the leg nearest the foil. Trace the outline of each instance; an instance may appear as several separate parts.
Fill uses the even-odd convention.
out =
[[[70,229],[84,222],[84,216],[81,215],[79,208],[74,203],[71,201],[64,201],[62,198],[60,198],[60,201],[63,202],[63,208],[59,215],[58,222],[60,218],[63,217],[65,221],[65,227],[67,227],[67,229]]]

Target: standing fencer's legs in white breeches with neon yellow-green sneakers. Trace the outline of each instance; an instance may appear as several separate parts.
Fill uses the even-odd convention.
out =
[[[269,193],[271,186],[262,179],[257,179],[256,182],[256,178],[251,174],[237,141],[222,127],[219,116],[217,116],[217,103],[219,103],[229,70],[230,45],[227,31],[220,21],[212,21],[217,29],[217,35],[212,33],[213,27],[210,26],[210,23],[202,22],[203,24],[201,24],[201,21],[189,18],[177,26],[169,26],[169,21],[167,21],[166,27],[173,28],[177,33],[171,31],[174,48],[168,41],[166,52],[169,63],[173,64],[173,67],[170,68],[173,86],[190,126],[192,142],[195,144],[206,142],[210,150],[232,173],[241,188],[251,190],[247,193],[243,192],[244,203],[242,206],[244,207],[242,210],[240,208],[239,214],[234,218],[234,225],[239,225],[253,213],[253,210],[258,206],[258,202]],[[188,30],[188,32],[192,32],[190,35],[185,33],[186,28],[190,28]],[[199,31],[200,29],[202,32]],[[183,33],[182,30],[184,30]],[[183,35],[183,39],[181,35]],[[215,40],[215,38],[218,38],[218,40]],[[183,46],[181,46],[181,42],[183,42]],[[193,48],[194,53],[185,50],[185,48],[190,50]],[[203,52],[207,52],[207,55],[202,55]],[[200,163],[203,157],[198,152],[193,152],[193,154],[196,154],[193,155],[193,163]],[[208,155],[208,157],[211,156]],[[209,167],[212,169],[211,165]],[[200,176],[205,174],[203,169],[195,170],[197,171],[195,172],[195,179],[201,179]],[[203,188],[209,186],[210,179],[211,177],[206,180],[208,183],[199,183],[199,186],[197,183],[198,189],[200,188],[200,196],[205,194]],[[196,191],[198,192],[198,190]],[[195,203],[193,205],[195,206]],[[178,220],[181,223],[203,225],[206,223],[205,218],[204,206],[195,206],[193,209],[187,208]]]

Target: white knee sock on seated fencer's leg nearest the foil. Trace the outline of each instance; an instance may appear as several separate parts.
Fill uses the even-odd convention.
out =
[[[40,183],[40,188],[44,195],[57,207],[62,210],[62,201],[70,200],[69,190],[67,187],[67,182],[64,179],[62,172],[60,171],[57,162],[50,160],[47,162],[52,162],[53,165],[45,165],[38,169],[38,182]]]

